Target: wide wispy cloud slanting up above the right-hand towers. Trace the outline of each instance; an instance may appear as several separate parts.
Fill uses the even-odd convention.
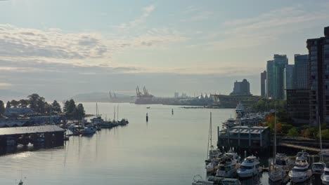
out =
[[[225,32],[206,36],[209,41],[203,46],[215,50],[262,46],[280,39],[284,34],[328,20],[326,11],[307,11],[302,6],[285,7],[252,18],[226,21],[221,25]]]

